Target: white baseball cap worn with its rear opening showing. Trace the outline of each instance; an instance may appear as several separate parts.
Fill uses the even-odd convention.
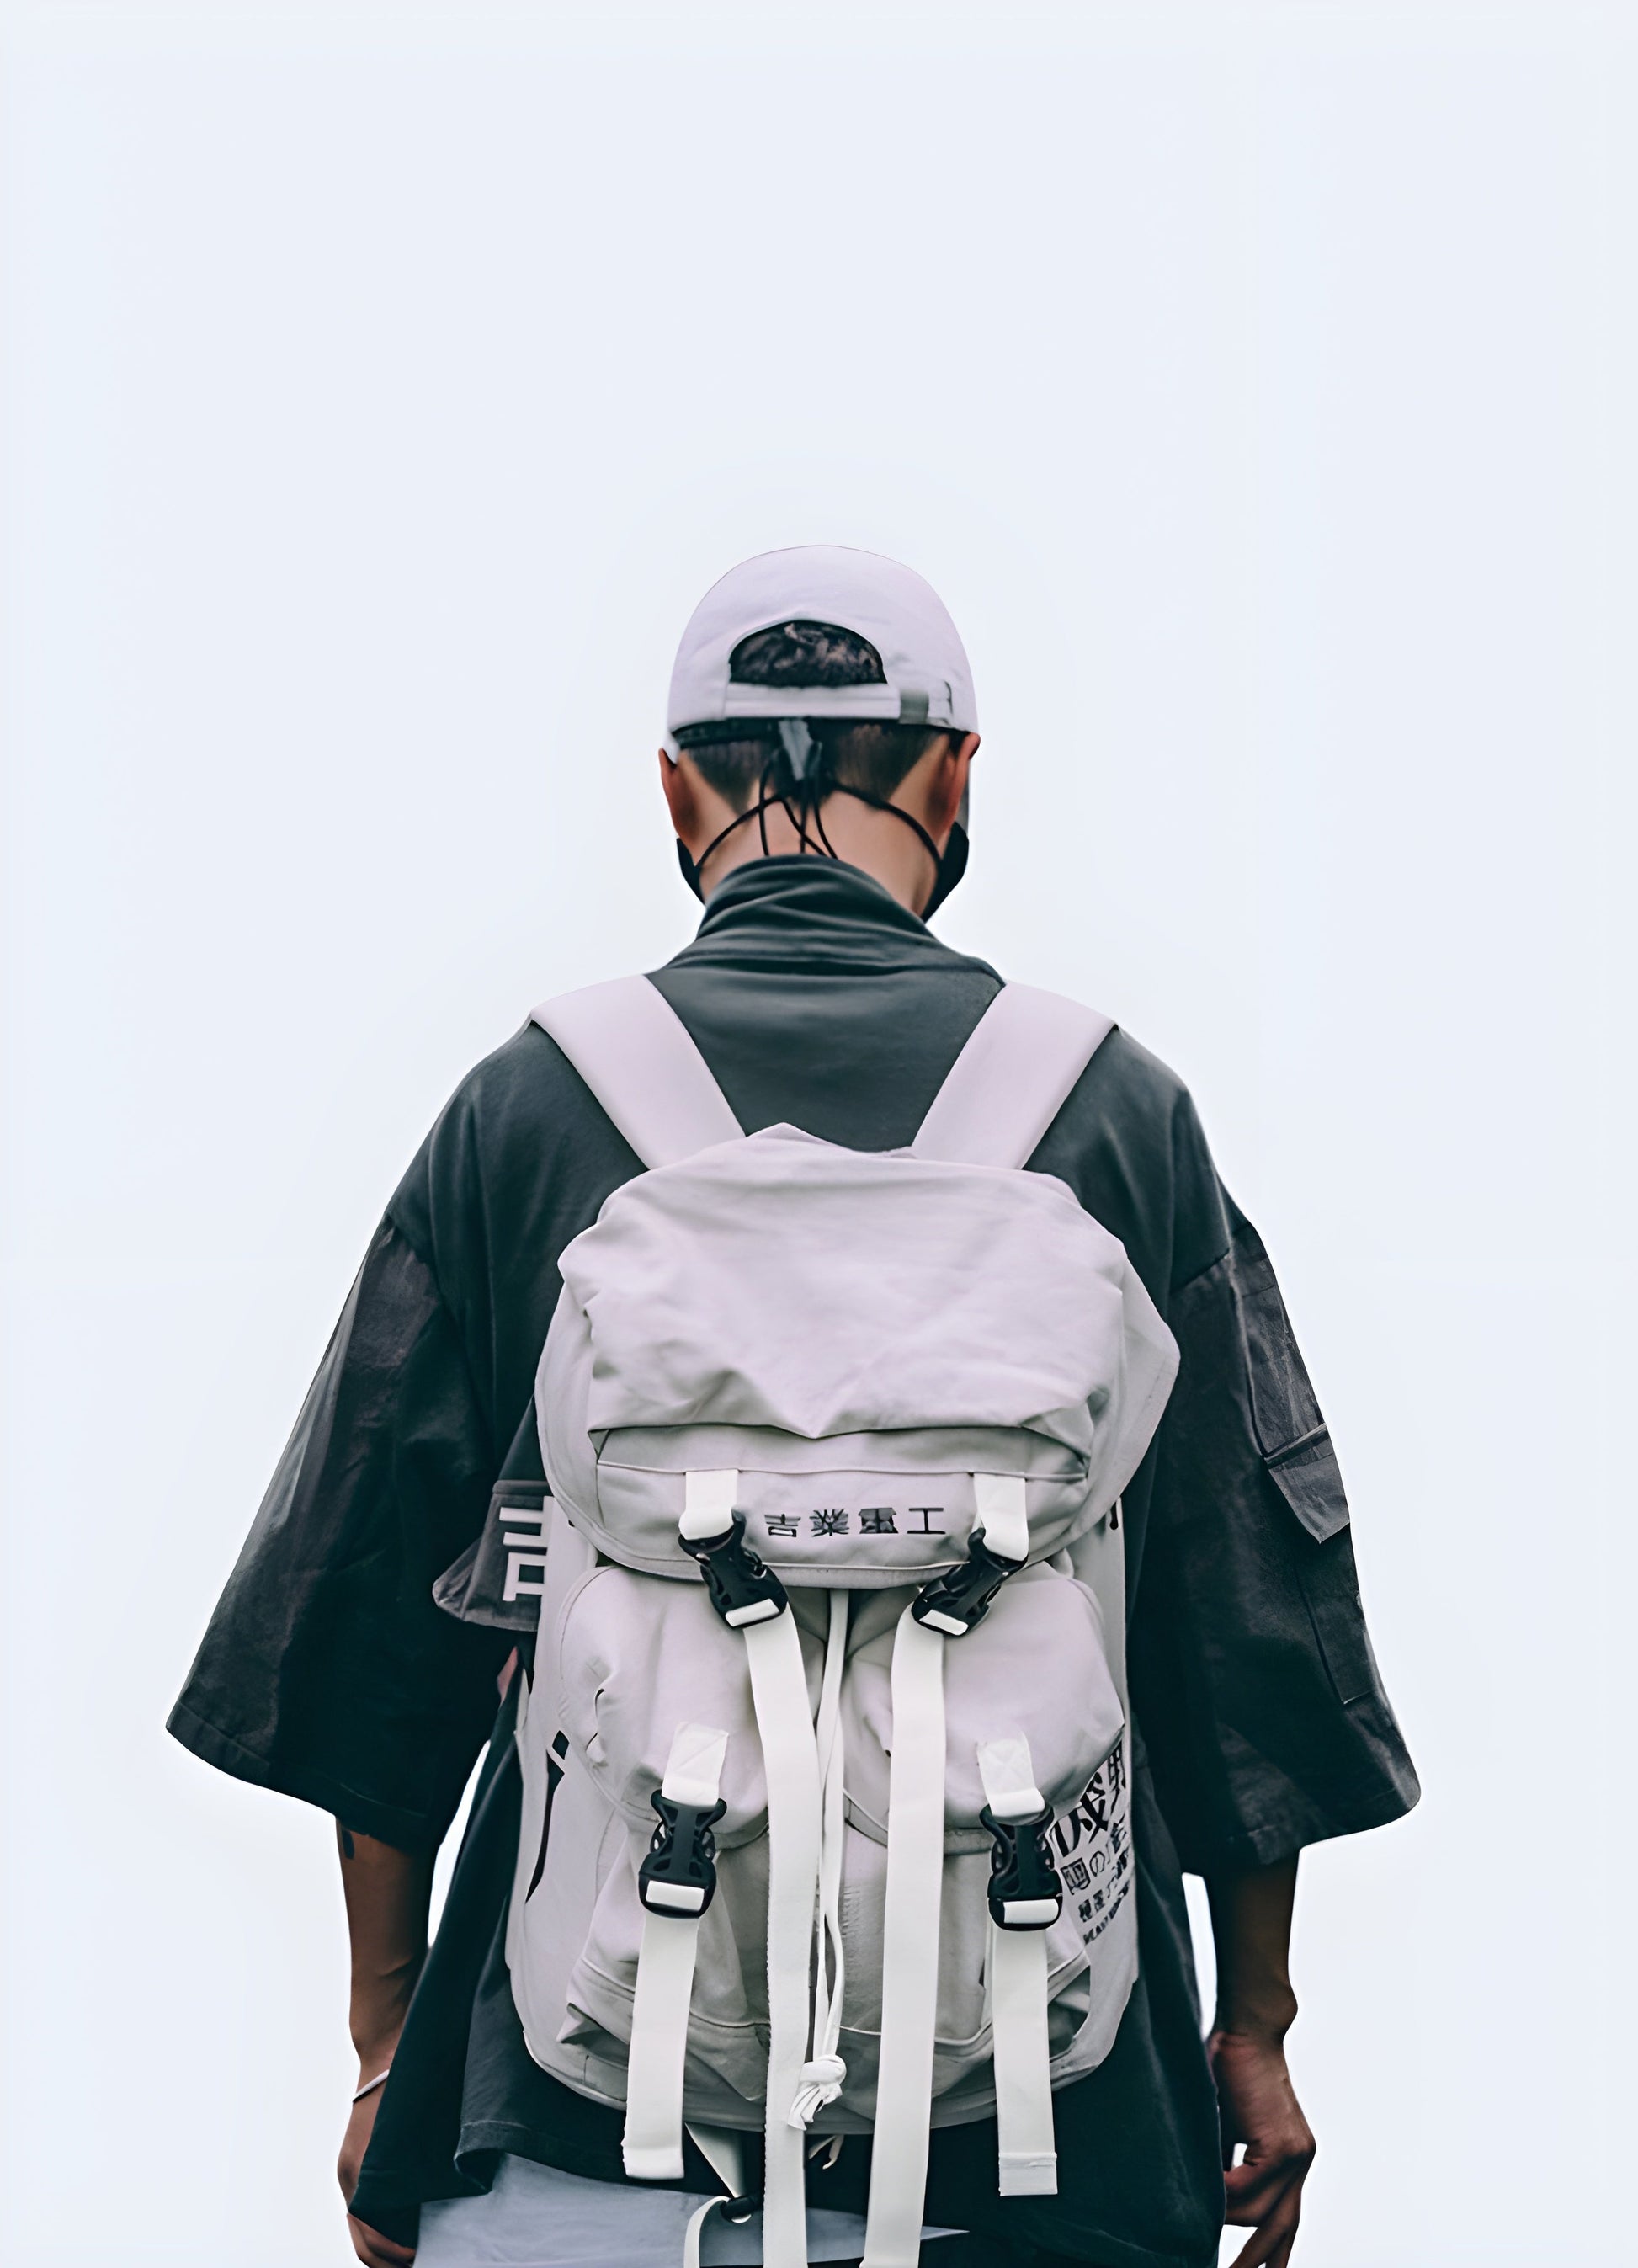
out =
[[[867,637],[885,685],[737,685],[733,649],[780,621],[830,621]],[[944,601],[910,567],[844,544],[762,551],[712,583],[672,667],[667,733],[724,717],[887,717],[978,730],[973,674]]]

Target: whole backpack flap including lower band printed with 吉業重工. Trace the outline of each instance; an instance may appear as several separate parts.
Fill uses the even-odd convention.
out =
[[[547,1470],[599,1549],[656,1574],[692,1572],[683,1476],[717,1467],[799,1585],[960,1563],[985,1472],[1025,1479],[1050,1556],[1114,1501],[1175,1368],[1062,1182],[794,1127],[617,1188],[560,1268]]]

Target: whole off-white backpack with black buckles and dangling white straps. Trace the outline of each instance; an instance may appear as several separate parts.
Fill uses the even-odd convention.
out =
[[[873,2132],[867,2268],[930,2125],[1050,2193],[1053,2087],[1137,1975],[1118,1499],[1177,1347],[1025,1159],[1109,1032],[1005,987],[907,1150],[746,1136],[647,978],[535,1009],[649,1168],[560,1259],[506,1937],[535,2062],[683,2127],[805,2268],[803,2159]],[[517,1569],[513,1569],[517,1581]],[[690,2229],[699,2259],[701,2207]]]

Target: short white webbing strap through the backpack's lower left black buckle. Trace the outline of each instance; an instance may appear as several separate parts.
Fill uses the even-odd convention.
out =
[[[710,1810],[726,1749],[728,1735],[717,1726],[678,1724],[660,1792],[672,1803]],[[683,2066],[696,1950],[699,1912],[658,1914],[644,1907],[626,2057],[626,2130],[619,2143],[633,2182],[683,2177]]]

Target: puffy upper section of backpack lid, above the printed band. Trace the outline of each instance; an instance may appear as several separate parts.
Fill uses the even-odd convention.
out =
[[[628,1182],[558,1266],[592,1433],[1025,1427],[1084,1458],[1118,1381],[1125,1252],[1039,1173],[767,1127]]]

